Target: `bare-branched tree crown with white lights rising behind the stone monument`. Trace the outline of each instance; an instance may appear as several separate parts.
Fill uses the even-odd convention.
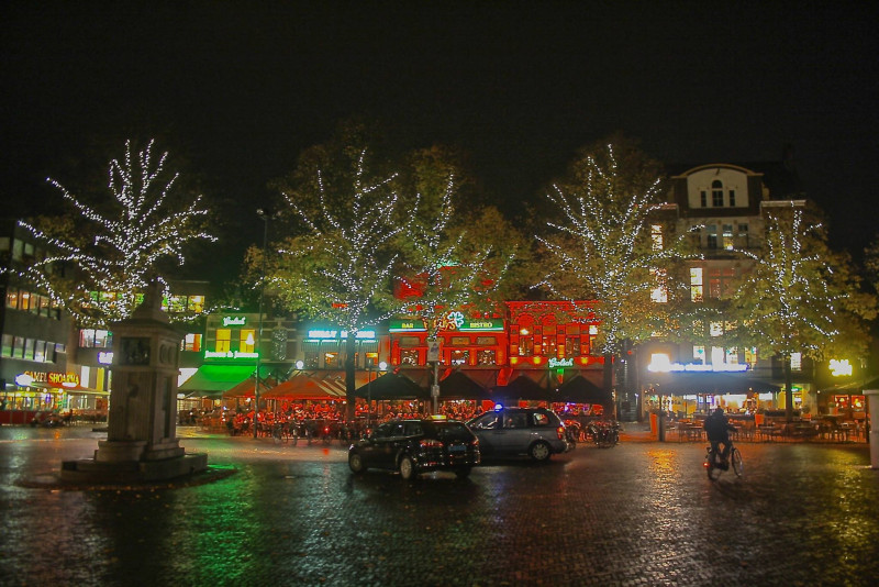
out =
[[[162,262],[182,265],[188,243],[215,241],[204,231],[201,196],[189,199],[175,191],[179,174],[166,173],[168,154],[156,159],[153,144],[135,154],[132,142],[125,143],[124,158],[110,162],[107,187],[112,198],[94,198],[93,204],[48,178],[78,213],[77,220],[67,215],[60,221],[43,219],[45,225],[20,223],[49,253],[16,273],[79,325],[107,328],[130,317],[153,280],[167,294]]]

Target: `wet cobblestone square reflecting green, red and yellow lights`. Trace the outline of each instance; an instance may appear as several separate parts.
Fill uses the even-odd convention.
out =
[[[103,434],[0,429],[2,585],[876,585],[866,444],[580,445],[467,480],[353,476],[345,451],[180,429],[226,478],[175,489],[23,487]],[[634,440],[634,439],[633,439]]]

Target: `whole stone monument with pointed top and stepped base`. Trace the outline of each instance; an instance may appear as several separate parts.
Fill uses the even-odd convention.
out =
[[[182,333],[162,311],[151,284],[131,318],[112,324],[113,364],[107,440],[93,459],[62,463],[63,481],[142,483],[208,468],[207,454],[186,454],[177,432],[177,374]]]

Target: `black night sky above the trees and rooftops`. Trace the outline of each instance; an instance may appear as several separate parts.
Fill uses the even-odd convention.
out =
[[[46,175],[75,185],[124,136],[158,133],[249,213],[303,147],[367,114],[469,151],[513,207],[614,131],[666,163],[778,160],[792,143],[834,243],[879,232],[870,2],[255,4],[4,2],[3,201],[51,207]]]

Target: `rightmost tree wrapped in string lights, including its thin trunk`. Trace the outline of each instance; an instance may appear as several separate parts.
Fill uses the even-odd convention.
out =
[[[823,225],[795,202],[768,208],[759,252],[736,288],[731,318],[734,335],[758,353],[779,356],[785,369],[785,411],[793,416],[790,358],[828,353],[864,356],[866,321],[877,313],[876,298],[860,288],[847,255],[830,250]]]

